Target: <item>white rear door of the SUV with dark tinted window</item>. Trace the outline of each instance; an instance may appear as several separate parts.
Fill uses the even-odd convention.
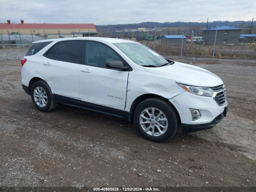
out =
[[[54,94],[79,99],[81,47],[82,40],[61,41],[44,54],[42,74]]]

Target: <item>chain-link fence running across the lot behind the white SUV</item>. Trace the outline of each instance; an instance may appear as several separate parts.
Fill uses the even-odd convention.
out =
[[[247,34],[247,36],[243,36]],[[248,35],[250,34],[250,35]],[[94,34],[0,34],[1,48],[24,48],[32,42],[51,38],[99,36],[123,38],[140,42],[162,55],[180,55],[216,58],[249,58],[256,59],[256,29],[242,29],[235,34],[233,31],[205,30],[150,30],[122,31]]]

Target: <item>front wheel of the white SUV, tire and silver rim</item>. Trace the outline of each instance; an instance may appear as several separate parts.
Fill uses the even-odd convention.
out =
[[[178,128],[178,114],[165,100],[150,98],[134,111],[134,124],[145,138],[162,142],[174,136]]]

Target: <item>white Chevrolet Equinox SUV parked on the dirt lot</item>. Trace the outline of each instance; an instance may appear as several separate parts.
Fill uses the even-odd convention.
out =
[[[126,118],[156,142],[172,138],[178,125],[184,134],[212,128],[227,112],[218,76],[134,41],[37,41],[21,64],[22,87],[39,110],[66,104]]]

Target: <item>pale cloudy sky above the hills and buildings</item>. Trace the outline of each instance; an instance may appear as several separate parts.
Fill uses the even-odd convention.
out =
[[[0,0],[0,23],[248,21],[256,0]],[[255,18],[256,20],[256,18]]]

